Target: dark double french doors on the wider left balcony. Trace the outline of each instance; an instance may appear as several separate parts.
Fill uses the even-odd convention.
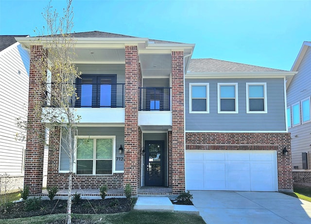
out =
[[[76,107],[116,107],[116,80],[116,75],[82,75],[76,81]]]

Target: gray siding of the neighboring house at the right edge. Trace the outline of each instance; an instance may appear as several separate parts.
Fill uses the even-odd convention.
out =
[[[311,48],[306,51],[290,86],[287,88],[287,106],[291,106],[311,96]],[[289,128],[292,136],[293,166],[302,169],[302,152],[309,152],[309,169],[311,169],[311,122]],[[295,137],[296,136],[296,137]]]

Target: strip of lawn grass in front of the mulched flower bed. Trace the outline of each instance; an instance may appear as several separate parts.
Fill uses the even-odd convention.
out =
[[[48,224],[65,220],[66,214],[1,220],[1,224]],[[72,220],[94,221],[96,224],[205,224],[202,217],[181,212],[137,211],[116,214],[74,214]]]

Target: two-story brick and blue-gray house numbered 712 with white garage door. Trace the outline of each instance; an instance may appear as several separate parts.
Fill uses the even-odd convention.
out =
[[[285,79],[294,72],[191,59],[194,44],[97,31],[73,36],[82,72],[75,84],[82,117],[75,144],[83,144],[74,188],[129,183],[134,195],[155,186],[173,194],[293,191]],[[33,38],[17,40],[40,58],[44,40],[42,46],[30,46]],[[31,69],[30,88],[40,75]],[[30,105],[35,97],[30,92]],[[29,133],[24,184],[39,194],[43,135]],[[69,158],[60,147],[61,128],[50,136],[47,185],[65,188]]]

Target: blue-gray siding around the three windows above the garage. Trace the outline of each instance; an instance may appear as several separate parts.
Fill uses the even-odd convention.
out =
[[[189,83],[209,83],[209,113],[189,113]],[[217,83],[238,83],[239,113],[218,113]],[[268,113],[246,113],[246,82],[267,83]],[[285,131],[284,80],[187,79],[185,82],[186,131]]]

